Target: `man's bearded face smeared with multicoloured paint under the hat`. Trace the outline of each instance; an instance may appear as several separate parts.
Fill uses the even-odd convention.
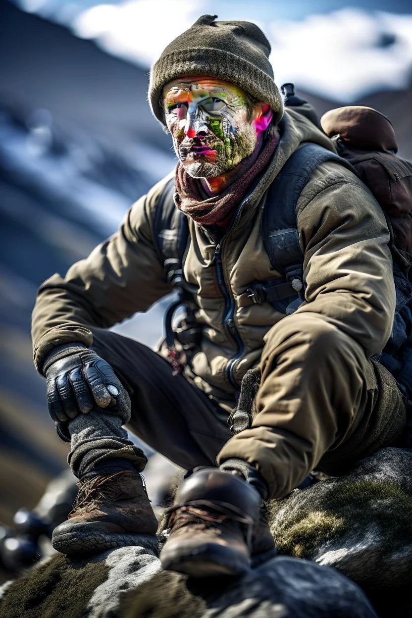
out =
[[[241,88],[211,77],[175,80],[163,95],[174,149],[195,178],[234,169],[253,153],[272,119],[268,104],[254,104]]]

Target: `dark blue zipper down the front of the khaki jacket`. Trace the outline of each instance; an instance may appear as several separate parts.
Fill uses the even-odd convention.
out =
[[[235,315],[235,300],[232,294],[230,294],[229,286],[227,286],[225,282],[225,276],[224,276],[223,265],[222,265],[222,243],[224,242],[224,240],[227,238],[229,233],[232,231],[233,227],[235,227],[238,220],[240,219],[240,214],[242,213],[243,207],[246,205],[247,201],[248,200],[246,198],[246,200],[243,201],[242,204],[239,206],[238,211],[235,215],[235,218],[232,221],[232,225],[227,230],[221,242],[216,245],[216,249],[214,252],[214,260],[216,262],[217,283],[219,284],[219,287],[225,299],[225,310],[224,310],[224,319],[223,319],[224,326],[227,329],[227,331],[229,331],[230,336],[232,336],[232,339],[233,341],[235,341],[235,344],[237,346],[235,355],[232,358],[230,358],[229,361],[227,362],[227,365],[225,367],[225,376],[230,382],[230,384],[232,384],[232,386],[235,388],[236,391],[240,391],[240,387],[238,386],[235,380],[235,377],[233,376],[233,370],[235,368],[236,361],[242,357],[243,351],[245,350],[245,344],[243,344],[242,337],[240,337],[238,329],[236,328],[235,320],[233,320],[233,316]]]

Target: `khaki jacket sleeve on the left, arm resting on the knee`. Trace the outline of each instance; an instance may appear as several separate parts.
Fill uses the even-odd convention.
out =
[[[64,278],[54,274],[40,286],[32,315],[38,371],[54,346],[90,346],[90,326],[109,328],[170,292],[152,240],[151,195],[153,190],[133,204],[117,232],[71,266]]]

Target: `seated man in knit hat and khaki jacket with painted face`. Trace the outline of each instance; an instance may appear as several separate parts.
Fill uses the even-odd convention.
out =
[[[165,568],[198,577],[242,573],[273,548],[261,499],[285,496],[318,465],[338,470],[397,443],[405,425],[395,380],[370,360],[395,308],[389,232],[347,167],[319,165],[296,205],[305,302],[285,315],[246,300],[253,282],[280,276],[262,239],[267,189],[301,144],[334,146],[284,113],[261,30],[215,19],[203,15],[172,41],[149,85],[179,158],[174,201],[189,224],[183,272],[201,329],[190,363],[175,375],[158,354],[105,330],[170,291],[153,235],[170,177],[64,279],[44,282],[33,312],[36,367],[80,479],[54,547],[95,551],[156,532],[139,475],[146,457],[128,423],[183,468],[201,467],[180,486],[162,551]],[[233,436],[227,418],[257,366],[257,414]]]

